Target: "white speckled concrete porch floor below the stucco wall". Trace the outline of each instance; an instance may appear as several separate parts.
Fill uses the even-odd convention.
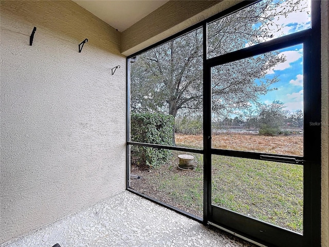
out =
[[[129,191],[0,247],[255,246]]]

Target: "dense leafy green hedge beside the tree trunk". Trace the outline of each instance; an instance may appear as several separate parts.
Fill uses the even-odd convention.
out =
[[[132,142],[173,145],[174,117],[164,114],[132,113],[131,140]],[[166,149],[132,146],[136,165],[159,167],[166,164],[171,151]]]

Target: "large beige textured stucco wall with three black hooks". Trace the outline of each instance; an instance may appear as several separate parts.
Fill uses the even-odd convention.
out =
[[[125,189],[120,40],[74,2],[1,1],[0,243]]]

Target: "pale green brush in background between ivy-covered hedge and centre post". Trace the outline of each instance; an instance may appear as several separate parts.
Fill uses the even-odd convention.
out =
[[[190,119],[187,117],[177,117],[175,120],[175,132],[181,134],[202,134],[203,124],[202,118]]]

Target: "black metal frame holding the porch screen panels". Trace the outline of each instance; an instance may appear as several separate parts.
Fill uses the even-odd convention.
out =
[[[304,45],[304,152],[303,157],[300,156],[290,156],[280,154],[271,154],[270,158],[278,162],[293,163],[303,165],[304,169],[304,214],[303,214],[303,235],[302,235],[302,246],[321,246],[321,126],[310,125],[310,122],[321,122],[321,40],[320,40],[320,1],[312,0],[312,27],[303,31],[299,31],[293,34],[287,34],[284,37],[273,39],[264,43],[260,43],[242,50],[237,50],[230,52],[228,54],[221,55],[219,57],[207,58],[207,24],[211,23],[221,17],[228,14],[236,12],[250,4],[254,4],[258,1],[243,1],[227,10],[224,10],[218,14],[215,14],[205,21],[202,21],[196,25],[193,25],[185,30],[182,30],[173,36],[157,42],[145,49],[142,49],[135,54],[127,57],[127,172],[126,172],[126,189],[147,198],[157,204],[166,206],[170,209],[177,211],[180,214],[208,224],[211,214],[211,197],[208,196],[211,192],[211,155],[229,155],[236,157],[245,157],[266,160],[266,155],[264,153],[255,152],[243,152],[234,150],[218,150],[211,148],[211,128],[204,127],[204,147],[203,149],[192,149],[183,147],[173,147],[165,145],[156,144],[145,144],[131,142],[130,140],[130,59],[155,48],[161,44],[167,43],[173,39],[176,39],[184,34],[191,32],[198,28],[203,28],[203,40],[204,40],[204,71],[211,66],[218,65],[220,63],[225,63],[227,61],[235,61],[243,59],[245,57],[251,57],[258,54],[263,54],[264,52],[280,49],[283,46],[291,46],[295,44]],[[233,59],[233,60],[232,60]],[[310,79],[312,78],[312,80]],[[208,82],[208,83],[206,83]],[[207,105],[211,105],[211,89],[210,87],[210,73],[204,73],[204,126],[211,126],[211,112],[210,108],[207,109]],[[209,101],[210,100],[210,101]],[[172,205],[162,203],[154,198],[145,196],[142,193],[130,188],[130,146],[145,146],[153,148],[164,148],[177,151],[185,151],[192,153],[201,153],[204,155],[204,217],[196,217],[187,213],[184,210],[176,208]],[[289,160],[291,158],[291,160]],[[305,186],[307,185],[307,186]],[[223,226],[225,228],[225,225]],[[227,229],[232,230],[234,229]],[[252,239],[254,241],[269,244],[273,246],[281,246],[275,244],[275,239],[277,236],[272,236],[272,244],[266,242],[259,238],[254,238],[245,233],[239,233],[241,236]],[[289,246],[289,245],[288,245]]]

